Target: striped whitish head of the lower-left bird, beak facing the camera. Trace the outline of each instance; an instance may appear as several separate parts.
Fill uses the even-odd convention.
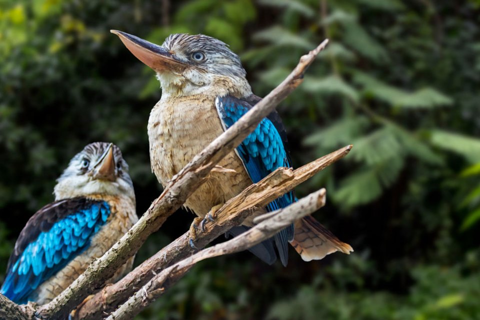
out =
[[[113,143],[86,145],[68,163],[53,190],[55,200],[88,195],[126,195],[135,203],[128,164]]]

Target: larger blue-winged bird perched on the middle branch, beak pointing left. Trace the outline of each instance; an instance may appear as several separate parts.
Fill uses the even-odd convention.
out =
[[[148,119],[150,163],[160,184],[165,186],[194,155],[251,109],[260,97],[252,93],[240,58],[227,44],[204,34],[170,34],[161,45],[135,35],[111,30],[127,49],[156,72],[161,97]],[[290,167],[285,127],[279,114],[263,118],[234,151],[210,172],[207,180],[185,201],[198,217],[190,227],[190,243],[207,219],[228,199],[256,183],[278,167]],[[273,211],[296,200],[293,191],[270,202]],[[236,236],[251,227],[252,218],[229,230]],[[278,251],[281,263],[288,260],[288,242],[303,260],[321,259],[334,251],[352,248],[312,217],[295,222],[250,248],[272,264]]]

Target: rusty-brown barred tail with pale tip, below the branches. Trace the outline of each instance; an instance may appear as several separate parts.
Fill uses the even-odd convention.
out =
[[[320,260],[335,251],[350,254],[352,247],[311,216],[295,222],[295,235],[290,242],[304,261]]]

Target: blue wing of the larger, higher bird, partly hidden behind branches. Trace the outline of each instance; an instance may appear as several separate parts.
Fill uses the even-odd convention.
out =
[[[252,105],[247,101],[232,96],[217,97],[216,101],[218,115],[225,129],[235,123],[251,107]],[[279,127],[281,125],[279,116],[276,113],[274,116],[274,121],[269,117],[262,119],[255,130],[236,148],[253,183],[260,181],[280,166],[291,166],[288,151],[285,149],[284,128]],[[273,211],[288,206],[293,201],[293,192],[288,192],[270,202],[266,209]],[[287,243],[293,238],[293,225],[281,230],[274,238],[280,259],[283,265],[286,265]]]

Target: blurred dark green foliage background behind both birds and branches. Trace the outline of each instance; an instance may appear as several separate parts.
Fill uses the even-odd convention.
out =
[[[139,214],[160,192],[146,135],[159,84],[109,29],[217,37],[258,95],[328,37],[278,110],[295,166],[354,144],[297,193],[327,188],[314,216],[355,252],[204,261],[137,319],[480,319],[479,22],[479,0],[1,0],[0,282],[85,144],[122,149]],[[136,263],[192,218],[171,216]]]

